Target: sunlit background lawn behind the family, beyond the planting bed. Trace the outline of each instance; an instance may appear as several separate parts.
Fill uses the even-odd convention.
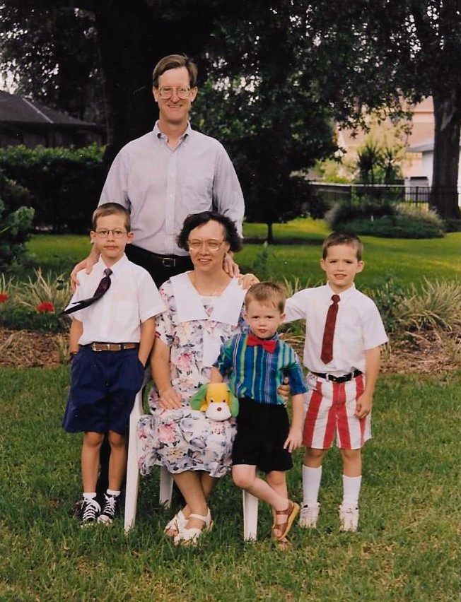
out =
[[[263,224],[245,224],[245,237],[266,235]],[[301,244],[274,244],[268,247],[269,256],[265,270],[261,274],[282,280],[284,276],[293,281],[311,285],[322,280],[319,266],[322,240],[328,234],[323,220],[299,218],[288,224],[274,225],[274,237],[283,242],[287,239],[302,240]],[[357,277],[360,287],[377,288],[392,278],[398,285],[411,282],[420,283],[424,278],[457,280],[461,278],[461,232],[453,232],[443,239],[401,240],[366,236],[364,259],[366,268]],[[262,244],[246,244],[237,255],[243,271],[255,266],[255,257],[264,253]],[[35,235],[28,249],[37,258],[37,263],[45,270],[55,273],[69,272],[71,268],[88,254],[87,236],[77,235]],[[259,262],[259,266],[260,266]],[[255,272],[258,273],[257,269]]]

